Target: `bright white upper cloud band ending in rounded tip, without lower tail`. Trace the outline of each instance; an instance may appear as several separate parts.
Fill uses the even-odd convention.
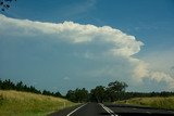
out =
[[[9,18],[4,15],[0,15],[0,20],[1,35],[48,35],[75,44],[92,41],[112,43],[113,47],[110,49],[110,52],[112,52],[113,55],[134,55],[140,51],[140,47],[144,44],[137,41],[134,36],[128,36],[109,26],[97,27],[94,25],[80,25],[73,22],[59,24],[41,23],[28,20]]]

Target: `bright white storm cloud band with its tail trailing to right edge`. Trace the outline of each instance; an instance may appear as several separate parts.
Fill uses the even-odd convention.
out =
[[[10,31],[10,33],[9,33]],[[134,36],[126,35],[119,29],[110,26],[97,27],[95,25],[82,25],[73,22],[64,23],[42,23],[29,20],[15,20],[0,14],[0,35],[11,37],[39,37],[47,36],[75,46],[95,44],[102,46],[104,49],[99,50],[98,54],[94,51],[84,53],[86,59],[95,55],[121,57],[126,60],[132,68],[132,78],[142,81],[149,78],[156,81],[165,81],[170,88],[174,88],[174,79],[161,72],[150,70],[149,64],[134,55],[138,53],[144,43],[138,41]],[[105,47],[109,44],[109,47]],[[99,56],[99,57],[100,57]],[[125,70],[126,72],[126,70]]]

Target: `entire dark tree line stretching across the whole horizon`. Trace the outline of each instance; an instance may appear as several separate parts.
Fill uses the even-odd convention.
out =
[[[162,91],[162,92],[126,92],[127,83],[115,80],[110,82],[107,87],[97,86],[96,88],[88,91],[85,88],[77,88],[75,90],[69,90],[65,95],[62,95],[59,91],[51,92],[48,90],[40,91],[34,86],[26,86],[22,81],[12,82],[10,79],[4,81],[0,79],[0,90],[16,90],[26,91],[37,94],[52,95],[67,99],[72,102],[114,102],[119,100],[127,100],[132,98],[145,98],[145,96],[171,96],[174,92]]]

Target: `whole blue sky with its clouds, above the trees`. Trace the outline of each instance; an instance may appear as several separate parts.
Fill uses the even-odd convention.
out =
[[[173,0],[17,0],[0,12],[0,78],[38,89],[124,81],[174,91]]]

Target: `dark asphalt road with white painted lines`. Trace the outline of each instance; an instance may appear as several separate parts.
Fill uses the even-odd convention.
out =
[[[49,116],[174,116],[174,112],[133,105],[87,103]]]

